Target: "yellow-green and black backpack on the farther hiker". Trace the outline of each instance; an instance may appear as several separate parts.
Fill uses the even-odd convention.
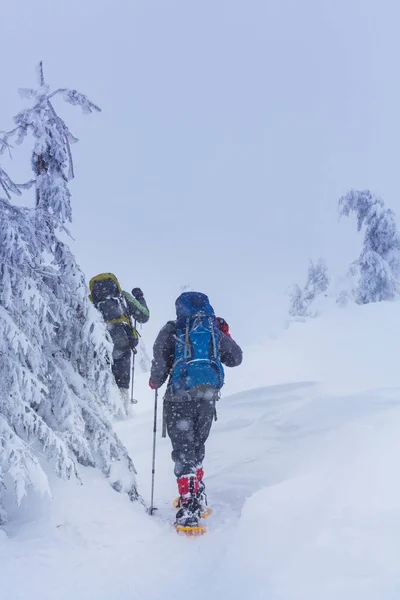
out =
[[[112,273],[100,273],[89,281],[89,289],[89,300],[101,312],[114,349],[133,350],[139,341],[138,333],[132,326],[118,279]]]

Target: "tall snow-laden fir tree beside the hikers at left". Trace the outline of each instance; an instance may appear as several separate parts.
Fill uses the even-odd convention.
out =
[[[0,498],[5,486],[17,503],[30,487],[48,490],[45,457],[64,478],[78,476],[75,461],[100,468],[114,489],[136,500],[135,468],[110,421],[123,413],[110,371],[112,345],[58,237],[71,220],[75,138],[51,100],[62,94],[86,111],[99,109],[76,91],[51,93],[41,66],[39,73],[39,89],[24,91],[33,106],[15,117],[3,140],[4,148],[12,135],[21,142],[33,134],[34,208],[10,203],[10,192],[20,190],[0,171],[7,196],[0,200]],[[3,506],[3,521],[5,513]]]

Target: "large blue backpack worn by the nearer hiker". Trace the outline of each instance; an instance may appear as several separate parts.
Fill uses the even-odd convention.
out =
[[[219,329],[208,297],[185,292],[176,301],[175,360],[171,377],[174,392],[200,385],[221,389],[224,368],[219,358]]]

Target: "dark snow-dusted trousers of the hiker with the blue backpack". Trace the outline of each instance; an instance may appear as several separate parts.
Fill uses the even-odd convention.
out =
[[[175,475],[196,473],[205,456],[205,443],[215,416],[218,391],[214,388],[196,390],[188,399],[165,402],[165,419],[168,436],[172,442],[172,460]]]

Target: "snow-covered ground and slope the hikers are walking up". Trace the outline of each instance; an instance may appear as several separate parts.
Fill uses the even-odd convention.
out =
[[[239,392],[219,403],[208,443],[207,536],[171,528],[175,482],[159,438],[158,515],[88,469],[83,486],[56,483],[51,503],[23,506],[0,533],[0,597],[397,599],[398,315],[399,304],[381,304],[295,324],[249,350],[240,377],[229,372]],[[148,498],[152,395],[143,384],[135,417],[117,428]]]

